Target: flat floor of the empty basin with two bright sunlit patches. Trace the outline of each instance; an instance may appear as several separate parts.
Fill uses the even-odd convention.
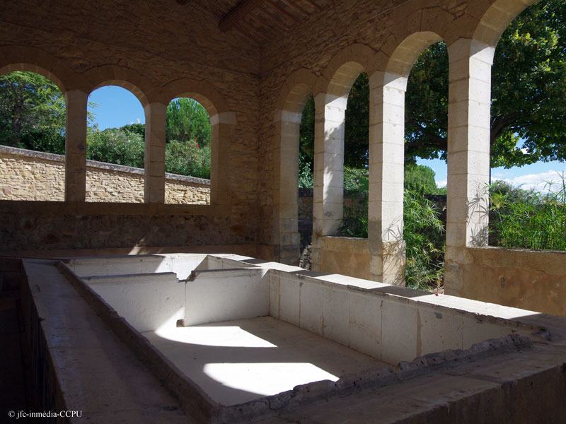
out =
[[[214,401],[226,406],[386,365],[272,317],[143,334]]]

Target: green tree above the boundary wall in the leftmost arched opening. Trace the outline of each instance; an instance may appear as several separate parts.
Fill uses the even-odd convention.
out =
[[[0,77],[0,143],[64,153],[65,100],[52,81],[27,71]]]

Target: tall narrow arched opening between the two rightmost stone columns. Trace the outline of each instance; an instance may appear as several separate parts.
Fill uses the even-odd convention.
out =
[[[424,49],[405,93],[403,239],[405,283],[439,290],[444,277],[449,57],[446,44]]]

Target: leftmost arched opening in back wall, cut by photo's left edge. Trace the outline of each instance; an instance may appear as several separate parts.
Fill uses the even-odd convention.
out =
[[[64,200],[66,109],[64,93],[39,73],[0,77],[0,199]]]

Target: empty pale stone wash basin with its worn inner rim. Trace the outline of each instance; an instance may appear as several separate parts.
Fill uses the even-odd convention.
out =
[[[203,423],[382,387],[543,334],[516,320],[523,310],[250,257],[65,262],[76,290]]]

